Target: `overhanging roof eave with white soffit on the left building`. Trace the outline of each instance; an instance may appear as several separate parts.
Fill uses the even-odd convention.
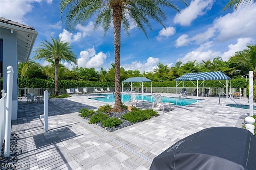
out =
[[[17,32],[17,57],[18,62],[27,62],[36,40],[38,31],[34,27],[24,25],[6,18],[0,19],[0,27]]]

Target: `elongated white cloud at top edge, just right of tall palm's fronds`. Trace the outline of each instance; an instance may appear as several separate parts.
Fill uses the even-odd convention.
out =
[[[174,17],[174,23],[179,23],[182,26],[189,26],[198,16],[204,15],[212,8],[213,1],[195,0],[191,1],[190,5],[177,13]]]

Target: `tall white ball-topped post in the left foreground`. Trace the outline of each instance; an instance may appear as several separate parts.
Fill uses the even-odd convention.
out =
[[[5,141],[4,156],[10,156],[10,140],[12,128],[12,84],[13,84],[13,67],[7,67],[7,93],[6,93],[6,123],[5,123]]]

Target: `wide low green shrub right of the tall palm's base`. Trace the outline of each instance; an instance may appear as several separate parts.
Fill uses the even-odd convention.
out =
[[[144,121],[144,120],[150,119],[152,116],[156,116],[156,115],[157,115],[157,111],[154,111],[152,109],[146,109],[146,110],[131,111],[129,113],[122,115],[121,117],[127,121],[135,123],[138,121]]]

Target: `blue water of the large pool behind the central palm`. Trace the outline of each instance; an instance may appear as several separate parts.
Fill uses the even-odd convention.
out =
[[[101,102],[109,102],[112,103],[115,102],[113,100],[112,94],[99,94],[100,98],[91,98],[92,100],[98,100]],[[149,102],[154,102],[152,96],[148,95],[136,95],[137,100],[148,100]],[[186,106],[188,104],[196,103],[201,101],[200,99],[184,99],[184,98],[172,98],[172,97],[162,97],[163,102],[171,102],[175,103],[178,106]],[[121,94],[121,100],[122,102],[129,102],[130,95],[129,94]]]

